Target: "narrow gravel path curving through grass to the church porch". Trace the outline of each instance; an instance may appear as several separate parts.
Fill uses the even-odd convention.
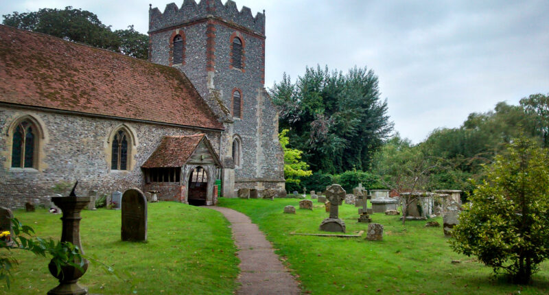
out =
[[[229,208],[208,208],[223,213],[231,222],[240,258],[238,281],[242,284],[236,294],[301,294],[299,284],[248,216]]]

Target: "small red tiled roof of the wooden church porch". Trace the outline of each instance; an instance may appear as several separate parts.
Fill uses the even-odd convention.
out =
[[[156,150],[154,150],[141,167],[183,167],[193,154],[198,143],[204,138],[204,134],[163,137],[159,146],[156,147]]]

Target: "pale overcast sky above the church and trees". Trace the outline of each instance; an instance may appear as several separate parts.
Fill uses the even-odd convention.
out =
[[[224,1],[223,1],[224,2]],[[113,29],[146,34],[149,3],[0,0],[0,14],[89,10]],[[176,4],[180,6],[183,0]],[[549,93],[549,1],[237,0],[266,10],[266,86],[327,64],[373,69],[395,130],[414,143],[497,102]]]

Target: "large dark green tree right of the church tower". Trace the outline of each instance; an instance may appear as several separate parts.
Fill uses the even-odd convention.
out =
[[[307,67],[294,83],[285,74],[274,83],[270,93],[281,108],[279,128],[290,130],[290,146],[303,151],[312,171],[369,168],[372,153],[393,128],[377,83],[366,67],[343,75],[320,66]]]

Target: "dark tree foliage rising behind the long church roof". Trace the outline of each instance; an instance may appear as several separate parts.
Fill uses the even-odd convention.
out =
[[[64,10],[41,8],[37,12],[13,12],[3,15],[3,24],[40,32],[65,40],[84,43],[135,58],[148,58],[148,36],[133,29],[115,32],[92,12],[67,6]]]

